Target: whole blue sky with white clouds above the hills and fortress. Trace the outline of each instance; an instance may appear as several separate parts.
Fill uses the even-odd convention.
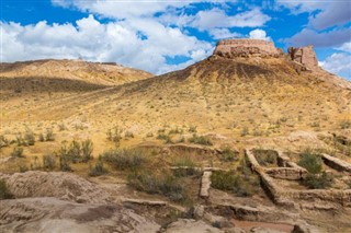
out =
[[[312,44],[322,68],[351,80],[349,0],[1,0],[2,61],[82,58],[158,74],[231,37]]]

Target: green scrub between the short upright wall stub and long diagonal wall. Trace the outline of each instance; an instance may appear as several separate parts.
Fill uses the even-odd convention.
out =
[[[215,171],[211,176],[211,182],[212,187],[230,191],[238,197],[251,197],[259,187],[259,179],[253,174],[245,176],[238,171]]]

